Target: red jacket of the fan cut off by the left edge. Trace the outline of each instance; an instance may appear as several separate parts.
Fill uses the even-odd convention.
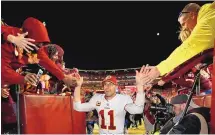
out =
[[[1,45],[1,79],[3,84],[22,84],[24,83],[24,76],[16,73],[15,69],[25,64],[25,60],[19,60],[15,56],[15,47],[13,44],[7,42],[7,36],[17,35],[21,33],[20,29],[10,26],[1,26],[3,39],[5,42]]]

